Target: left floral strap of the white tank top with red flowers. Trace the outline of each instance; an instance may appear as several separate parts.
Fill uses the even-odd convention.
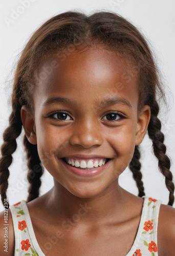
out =
[[[45,256],[37,243],[26,201],[10,206],[15,236],[14,256]]]

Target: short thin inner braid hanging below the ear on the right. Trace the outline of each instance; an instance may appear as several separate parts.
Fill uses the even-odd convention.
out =
[[[132,160],[129,163],[129,168],[133,173],[133,178],[136,181],[137,187],[139,189],[139,197],[143,197],[145,195],[144,193],[144,186],[142,182],[142,173],[140,171],[141,163],[139,161],[140,159],[140,151],[139,146],[135,146],[135,151]]]

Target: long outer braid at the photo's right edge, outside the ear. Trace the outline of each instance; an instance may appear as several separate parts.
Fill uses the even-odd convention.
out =
[[[156,100],[151,101],[151,118],[148,125],[148,135],[152,140],[152,147],[154,148],[154,154],[158,158],[160,172],[165,176],[165,184],[169,190],[169,202],[168,205],[172,205],[174,202],[174,184],[172,182],[172,173],[170,172],[170,159],[166,155],[166,146],[164,142],[164,135],[161,132],[161,122],[157,117],[159,113],[159,105]]]

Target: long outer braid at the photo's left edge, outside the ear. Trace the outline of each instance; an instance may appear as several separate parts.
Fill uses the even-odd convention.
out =
[[[16,105],[17,108],[17,105]],[[0,159],[0,192],[1,200],[7,198],[6,191],[8,188],[9,166],[12,163],[12,154],[15,152],[17,144],[16,138],[20,135],[22,123],[20,119],[19,108],[12,112],[9,118],[9,126],[3,134],[4,143],[1,147],[2,158]]]

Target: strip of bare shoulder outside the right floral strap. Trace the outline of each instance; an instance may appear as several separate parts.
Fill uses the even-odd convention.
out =
[[[161,204],[158,220],[158,248],[160,255],[173,256],[175,251],[174,241],[175,209],[169,205]]]

